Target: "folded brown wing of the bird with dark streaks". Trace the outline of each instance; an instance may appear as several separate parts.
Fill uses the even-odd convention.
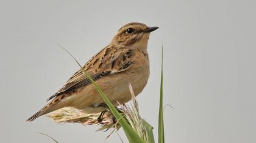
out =
[[[132,58],[133,50],[124,47],[116,47],[115,45],[108,45],[102,49],[101,52],[94,55],[83,68],[91,78],[96,81],[103,76],[113,75],[127,70],[130,64],[132,64]],[[69,78],[66,84],[60,88],[57,93],[48,98],[47,101],[90,83],[90,79],[88,79],[84,74],[84,71],[80,69]]]

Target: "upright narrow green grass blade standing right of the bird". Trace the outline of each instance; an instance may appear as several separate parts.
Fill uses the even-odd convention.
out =
[[[165,142],[165,133],[163,127],[163,46],[162,46],[162,64],[161,64],[161,85],[158,115],[158,143]]]

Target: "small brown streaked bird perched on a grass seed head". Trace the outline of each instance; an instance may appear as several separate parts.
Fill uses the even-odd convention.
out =
[[[98,84],[105,96],[118,106],[130,101],[129,83],[135,96],[143,91],[149,79],[149,34],[158,27],[130,22],[119,28],[110,44],[94,55],[82,68]],[[100,113],[107,109],[104,100],[80,68],[47,99],[41,110],[27,121],[34,121],[63,107],[74,107],[85,113]]]

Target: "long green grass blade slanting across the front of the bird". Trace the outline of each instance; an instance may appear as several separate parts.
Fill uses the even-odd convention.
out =
[[[60,47],[62,47],[61,45],[59,45]],[[62,47],[63,48],[63,47]],[[73,55],[71,55],[71,53],[68,52],[68,50],[66,50],[65,48],[63,48],[63,50],[65,50],[70,56],[72,56],[72,58],[77,62],[77,64],[79,65],[79,67],[84,71],[85,75],[90,79],[91,83],[94,85],[94,87],[98,90],[99,95],[104,99],[105,103],[108,105],[108,108],[110,109],[110,111],[112,111],[113,115],[115,116],[116,120],[119,122],[119,124],[121,125],[121,127],[123,127],[124,133],[126,133],[127,139],[129,140],[129,142],[138,142],[138,143],[142,143],[144,142],[143,139],[140,138],[140,136],[138,135],[138,133],[133,130],[132,127],[130,127],[130,125],[127,123],[127,121],[123,118],[123,116],[121,114],[118,113],[118,110],[116,110],[116,108],[114,107],[114,105],[108,100],[108,98],[104,95],[104,93],[102,92],[101,88],[98,87],[98,85],[96,84],[96,82],[93,81],[93,79],[91,78],[91,76],[84,70],[84,68],[79,64],[79,62],[76,60],[76,58],[74,58]]]

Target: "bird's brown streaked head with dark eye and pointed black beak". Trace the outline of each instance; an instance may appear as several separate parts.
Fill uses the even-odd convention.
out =
[[[147,48],[149,33],[158,27],[148,27],[146,24],[132,22],[119,28],[111,44],[127,48]]]

